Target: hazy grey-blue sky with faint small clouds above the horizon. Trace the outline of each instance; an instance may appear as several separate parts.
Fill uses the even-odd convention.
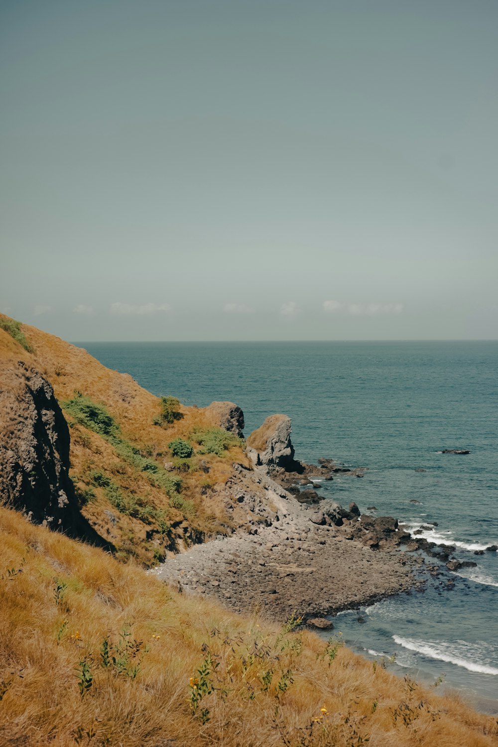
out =
[[[0,0],[0,311],[498,337],[494,0]]]

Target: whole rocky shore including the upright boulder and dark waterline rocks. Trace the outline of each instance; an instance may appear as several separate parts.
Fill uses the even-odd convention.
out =
[[[366,468],[296,460],[285,415],[271,415],[249,436],[247,454],[253,468],[234,464],[236,477],[219,495],[228,511],[246,509],[246,521],[231,536],[195,545],[152,571],[181,592],[212,597],[238,613],[278,621],[297,613],[326,627],[323,616],[422,589],[421,570],[441,574],[441,565],[414,551],[449,571],[475,565],[452,559],[452,546],[411,536],[396,518],[362,515],[355,503],[346,509],[323,499],[314,480],[363,477]]]

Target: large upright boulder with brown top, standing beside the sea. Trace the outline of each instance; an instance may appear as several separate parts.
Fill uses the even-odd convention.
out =
[[[247,455],[253,465],[281,467],[290,472],[295,470],[299,462],[294,459],[290,430],[287,415],[270,415],[262,426],[254,430],[247,439]]]

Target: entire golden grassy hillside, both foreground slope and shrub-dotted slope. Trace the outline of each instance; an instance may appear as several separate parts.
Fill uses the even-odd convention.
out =
[[[340,633],[324,642],[160,583],[144,565],[243,523],[224,490],[232,463],[247,464],[243,444],[209,409],[161,401],[0,316],[14,409],[20,360],[55,389],[81,512],[108,551],[0,508],[0,745],[498,744],[496,719],[355,656]]]

